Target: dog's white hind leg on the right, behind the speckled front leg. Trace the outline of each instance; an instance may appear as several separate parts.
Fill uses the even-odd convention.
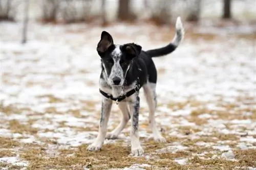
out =
[[[153,132],[153,138],[157,142],[166,142],[165,138],[160,134],[160,131],[157,130],[156,120],[155,120],[155,111],[157,107],[157,96],[156,96],[156,84],[147,83],[143,86],[145,98],[147,105],[150,110],[150,115],[148,116],[148,123]]]

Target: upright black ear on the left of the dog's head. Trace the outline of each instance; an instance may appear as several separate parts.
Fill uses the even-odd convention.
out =
[[[100,41],[97,46],[98,54],[100,55],[104,53],[106,50],[108,50],[109,46],[113,44],[114,44],[114,41],[112,36],[108,32],[102,31]]]

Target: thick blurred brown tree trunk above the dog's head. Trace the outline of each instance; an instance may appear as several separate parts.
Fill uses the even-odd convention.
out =
[[[119,0],[118,19],[123,21],[132,19],[130,11],[130,0]]]

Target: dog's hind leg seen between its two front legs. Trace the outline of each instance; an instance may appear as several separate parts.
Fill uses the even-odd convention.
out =
[[[130,113],[127,108],[127,103],[120,102],[118,104],[118,107],[123,114],[122,120],[120,124],[112,132],[106,134],[106,139],[116,139],[130,119]]]

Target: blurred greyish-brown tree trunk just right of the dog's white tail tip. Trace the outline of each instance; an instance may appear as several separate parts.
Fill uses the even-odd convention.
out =
[[[201,0],[188,1],[189,3],[189,13],[186,18],[187,21],[199,21],[201,14]]]

